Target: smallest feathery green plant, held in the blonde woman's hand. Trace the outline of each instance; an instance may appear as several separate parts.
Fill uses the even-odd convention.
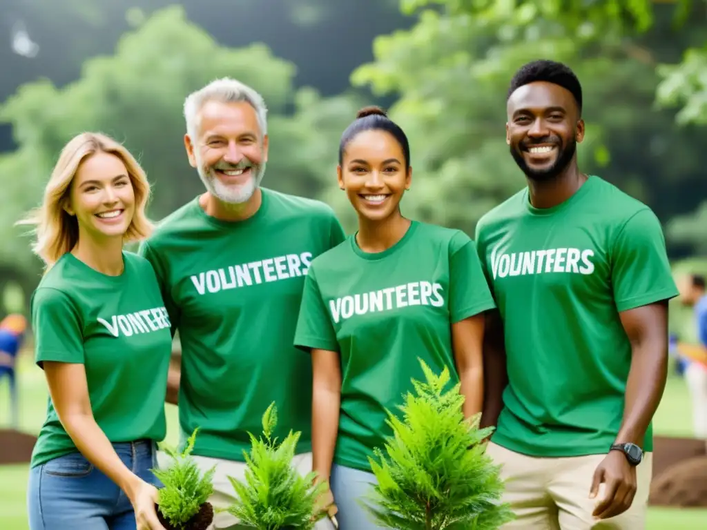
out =
[[[167,469],[152,470],[163,483],[163,488],[158,490],[160,512],[177,529],[185,526],[214,493],[216,466],[202,474],[191,457],[198,430],[192,432],[182,452],[167,444],[160,444],[160,449],[168,454],[172,462]]]

